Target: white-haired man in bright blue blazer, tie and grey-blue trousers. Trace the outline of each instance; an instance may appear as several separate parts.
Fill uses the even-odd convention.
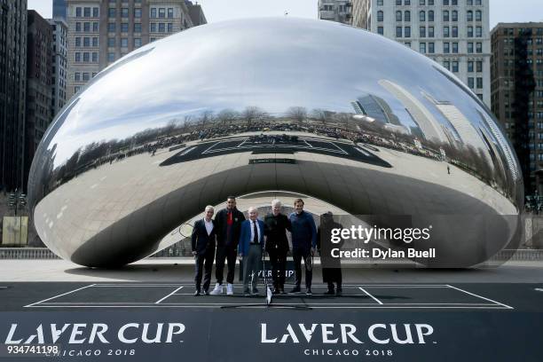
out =
[[[258,271],[260,260],[264,250],[264,222],[258,220],[256,208],[248,209],[249,219],[241,223],[240,258],[243,260],[243,294],[249,295],[248,280],[252,276],[251,294],[257,294],[256,283],[258,282]]]

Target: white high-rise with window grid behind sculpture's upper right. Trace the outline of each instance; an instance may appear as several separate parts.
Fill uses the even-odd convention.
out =
[[[425,54],[491,105],[489,0],[353,0],[352,25]]]

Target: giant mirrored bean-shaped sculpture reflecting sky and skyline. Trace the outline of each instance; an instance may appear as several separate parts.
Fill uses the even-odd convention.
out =
[[[403,44],[322,20],[210,24],[131,52],[58,114],[28,182],[45,245],[88,266],[152,255],[206,205],[269,191],[429,227],[408,245],[436,248],[429,266],[521,237],[518,161],[476,95]]]

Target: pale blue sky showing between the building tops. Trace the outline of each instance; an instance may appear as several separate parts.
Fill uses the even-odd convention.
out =
[[[44,18],[51,18],[52,0],[28,0]],[[317,18],[317,0],[200,0],[208,22],[262,16]],[[543,21],[541,0],[490,0],[491,29],[499,22]]]

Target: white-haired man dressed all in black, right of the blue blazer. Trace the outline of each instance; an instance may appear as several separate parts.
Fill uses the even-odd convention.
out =
[[[292,232],[290,220],[281,214],[281,201],[271,201],[271,214],[264,217],[266,251],[270,256],[273,294],[285,293],[285,271],[287,268],[287,230]]]

